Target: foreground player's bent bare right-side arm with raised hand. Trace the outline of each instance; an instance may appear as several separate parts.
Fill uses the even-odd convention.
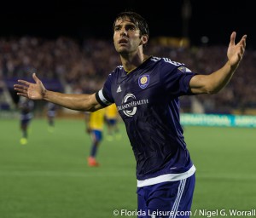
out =
[[[239,66],[246,48],[247,35],[241,37],[239,43],[235,43],[236,32],[230,36],[230,44],[227,51],[228,60],[225,65],[209,75],[196,75],[189,83],[190,89],[195,94],[218,93],[230,82],[234,72]]]

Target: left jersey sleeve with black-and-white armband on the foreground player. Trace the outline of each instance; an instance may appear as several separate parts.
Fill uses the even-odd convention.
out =
[[[109,106],[114,102],[113,95],[111,93],[112,80],[113,75],[109,74],[103,88],[96,92],[96,100],[104,107]]]

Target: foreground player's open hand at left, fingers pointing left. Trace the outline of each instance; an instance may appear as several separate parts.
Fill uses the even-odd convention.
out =
[[[38,79],[36,73],[33,73],[32,77],[36,83],[29,83],[21,79],[18,80],[21,84],[14,85],[17,95],[24,96],[32,100],[43,100],[46,92],[44,84],[40,79]]]

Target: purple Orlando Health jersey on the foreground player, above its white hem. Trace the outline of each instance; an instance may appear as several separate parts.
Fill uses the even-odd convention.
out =
[[[167,58],[150,57],[132,72],[118,66],[96,99],[115,103],[137,161],[137,180],[182,174],[193,166],[179,118],[180,95],[193,95],[195,73]]]

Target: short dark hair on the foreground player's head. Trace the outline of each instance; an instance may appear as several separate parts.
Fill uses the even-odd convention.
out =
[[[115,20],[113,21],[113,32],[116,20],[124,19],[125,17],[128,17],[131,20],[131,22],[137,26],[137,28],[140,30],[140,37],[143,35],[148,35],[149,37],[147,20],[145,20],[143,16],[141,16],[140,14],[137,14],[133,11],[124,11],[116,16]]]

